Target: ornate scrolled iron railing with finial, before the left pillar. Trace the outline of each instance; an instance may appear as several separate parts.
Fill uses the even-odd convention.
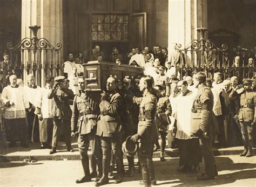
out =
[[[59,75],[63,68],[63,60],[60,63],[59,52],[62,44],[57,43],[54,47],[46,38],[37,38],[40,26],[30,26],[33,33],[32,38],[23,38],[17,45],[7,43],[10,54],[9,73],[16,74],[18,78],[24,79],[29,73],[35,75],[38,85],[41,86],[42,75]],[[13,71],[14,72],[11,72]],[[53,70],[55,72],[53,72]]]

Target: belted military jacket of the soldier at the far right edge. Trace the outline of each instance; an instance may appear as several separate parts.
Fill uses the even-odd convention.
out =
[[[240,96],[239,121],[256,122],[256,92],[242,93]]]

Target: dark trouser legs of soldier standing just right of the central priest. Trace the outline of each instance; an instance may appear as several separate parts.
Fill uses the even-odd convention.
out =
[[[200,147],[205,161],[205,174],[208,176],[215,175],[215,161],[212,152],[212,136],[205,138],[200,137]]]

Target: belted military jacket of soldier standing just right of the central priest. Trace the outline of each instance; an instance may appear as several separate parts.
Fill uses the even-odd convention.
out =
[[[191,131],[196,133],[200,128],[207,136],[217,133],[217,120],[212,111],[213,94],[210,87],[199,88],[195,96],[191,113]]]

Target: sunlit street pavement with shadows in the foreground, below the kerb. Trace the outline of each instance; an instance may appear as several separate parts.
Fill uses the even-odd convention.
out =
[[[165,162],[154,158],[154,168],[158,186],[256,186],[256,156],[245,158],[238,155],[216,156],[219,175],[215,180],[197,181],[196,174],[178,172],[179,158],[169,157]],[[127,169],[127,160],[124,160]],[[15,174],[15,175],[14,175]],[[75,180],[83,176],[80,161],[37,161],[35,163],[0,163],[0,186],[95,186],[94,182],[76,184]],[[139,186],[142,180],[137,172],[132,178],[123,178],[120,184],[105,186]]]

